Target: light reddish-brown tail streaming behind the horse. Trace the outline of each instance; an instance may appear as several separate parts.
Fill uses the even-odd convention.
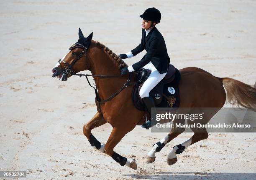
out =
[[[218,79],[227,91],[227,101],[230,104],[256,111],[256,83],[253,87],[229,77]]]

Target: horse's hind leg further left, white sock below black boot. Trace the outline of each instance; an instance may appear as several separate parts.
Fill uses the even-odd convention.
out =
[[[176,120],[174,120],[174,123],[176,123]],[[182,122],[181,122],[182,123]],[[184,123],[184,120],[183,120]],[[153,148],[148,152],[146,155],[146,158],[144,160],[145,163],[153,163],[156,159],[156,153],[160,152],[164,146],[169,143],[171,140],[176,138],[178,135],[183,133],[185,128],[172,128],[171,132],[164,137],[162,140],[157,142],[156,144],[153,145]]]

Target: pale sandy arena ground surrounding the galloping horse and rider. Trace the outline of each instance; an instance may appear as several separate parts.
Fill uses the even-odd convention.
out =
[[[137,160],[138,170],[121,167],[92,149],[82,133],[96,113],[94,90],[85,78],[60,82],[51,68],[78,39],[93,40],[116,54],[140,42],[141,18],[148,7],[161,10],[171,63],[200,67],[219,77],[253,85],[256,80],[256,1],[254,0],[101,0],[1,1],[0,5],[0,170],[26,170],[35,179],[255,179],[256,134],[210,133],[187,148],[175,165],[167,165],[184,133],[143,163],[151,146],[166,133],[136,127],[115,151]],[[140,60],[145,52],[126,60]],[[90,72],[86,72],[90,73]],[[229,106],[228,104],[226,106]],[[105,143],[111,126],[93,130]]]

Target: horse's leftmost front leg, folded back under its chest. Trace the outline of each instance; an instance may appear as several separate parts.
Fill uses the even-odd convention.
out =
[[[102,115],[99,112],[97,112],[92,117],[92,119],[84,125],[84,128],[83,128],[84,135],[87,137],[89,143],[102,153],[104,153],[105,145],[101,145],[101,143],[92,135],[91,131],[92,129],[97,128],[105,123],[106,121],[104,117],[102,117]]]

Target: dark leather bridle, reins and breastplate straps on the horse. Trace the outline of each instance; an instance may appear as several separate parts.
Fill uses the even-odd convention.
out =
[[[94,88],[95,90],[95,97],[96,97],[96,101],[98,103],[105,103],[109,100],[111,100],[113,97],[115,97],[116,95],[118,95],[119,92],[121,92],[125,87],[128,87],[130,85],[133,85],[133,84],[136,84],[137,82],[141,82],[141,79],[140,80],[137,80],[136,82],[131,82],[130,78],[131,78],[131,73],[129,73],[129,77],[127,79],[127,82],[123,85],[123,87],[120,88],[120,90],[118,90],[117,92],[115,92],[113,95],[111,95],[110,97],[108,97],[107,99],[105,100],[100,100],[100,97],[99,97],[99,93],[97,91],[97,86],[95,84],[95,87],[91,85],[89,79],[88,79],[88,76],[92,76],[92,77],[118,77],[118,76],[123,76],[123,75],[88,75],[88,74],[77,74],[75,73],[75,71],[72,69],[72,66],[85,54],[85,58],[86,58],[86,55],[87,55],[87,47],[84,47],[84,45],[81,45],[79,43],[76,43],[75,46],[73,45],[72,47],[70,47],[69,49],[72,50],[74,48],[81,48],[82,49],[82,52],[77,56],[77,58],[69,65],[68,62],[64,62],[65,64],[67,64],[68,68],[66,68],[64,66],[64,69],[63,67],[61,66],[62,70],[63,70],[63,73],[65,75],[67,75],[68,77],[70,77],[71,75],[77,75],[79,77],[82,77],[82,76],[85,76],[86,79],[87,79],[87,82],[88,84]],[[60,63],[61,60],[59,60],[58,62]],[[100,109],[100,107],[99,107]]]

